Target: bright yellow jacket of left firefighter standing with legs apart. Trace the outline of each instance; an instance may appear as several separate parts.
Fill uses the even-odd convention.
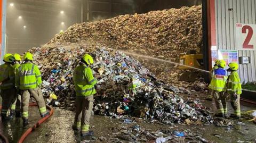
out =
[[[16,86],[21,90],[34,89],[42,84],[42,75],[37,65],[27,62],[19,66],[15,72]]]

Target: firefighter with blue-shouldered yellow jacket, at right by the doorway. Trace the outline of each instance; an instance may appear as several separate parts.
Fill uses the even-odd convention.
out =
[[[224,69],[226,67],[226,62],[220,60],[218,64],[218,69],[214,70],[214,76],[212,77],[209,88],[213,90],[213,98],[215,99],[215,104],[217,106],[218,113],[215,114],[217,117],[224,117],[227,115],[227,99],[224,94],[226,90],[227,81],[227,71]]]

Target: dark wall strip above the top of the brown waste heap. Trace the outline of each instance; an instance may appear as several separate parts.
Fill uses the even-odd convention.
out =
[[[182,6],[202,4],[202,0],[82,0],[82,21],[94,21],[114,16],[164,9],[179,9]]]

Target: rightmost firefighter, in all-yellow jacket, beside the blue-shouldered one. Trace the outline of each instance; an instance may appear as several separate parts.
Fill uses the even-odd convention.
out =
[[[242,86],[241,86],[239,75],[237,73],[238,64],[229,63],[228,66],[229,66],[228,71],[230,71],[231,73],[228,77],[227,92],[228,94],[230,94],[231,106],[234,109],[234,114],[231,114],[230,117],[239,119],[239,117],[241,117],[240,95],[242,94]]]

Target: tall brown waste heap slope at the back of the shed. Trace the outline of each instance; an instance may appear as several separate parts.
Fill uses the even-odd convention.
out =
[[[112,48],[177,61],[202,47],[202,6],[78,23],[55,35],[48,45],[94,40]]]

